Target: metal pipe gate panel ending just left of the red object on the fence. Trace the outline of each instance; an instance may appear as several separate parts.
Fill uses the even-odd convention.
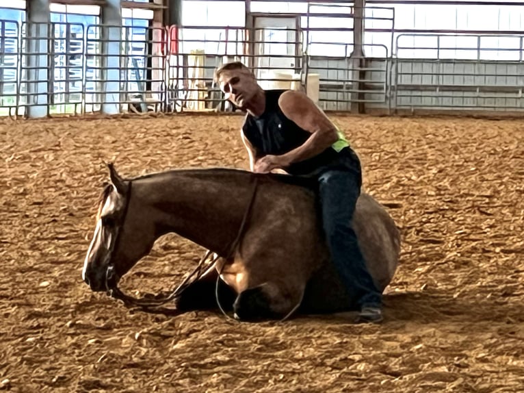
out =
[[[167,31],[161,27],[88,25],[85,110],[159,110],[166,95]]]

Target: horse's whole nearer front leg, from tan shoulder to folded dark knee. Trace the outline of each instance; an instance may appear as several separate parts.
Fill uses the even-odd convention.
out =
[[[283,319],[300,307],[319,254],[319,229],[307,219],[315,214],[312,201],[283,197],[275,205],[261,197],[271,208],[250,223],[235,261],[241,274],[233,310],[240,320]]]

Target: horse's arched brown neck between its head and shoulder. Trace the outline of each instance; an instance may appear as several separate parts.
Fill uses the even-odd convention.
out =
[[[137,179],[133,192],[155,207],[158,236],[168,232],[226,256],[248,209],[254,181],[237,170],[187,170]]]

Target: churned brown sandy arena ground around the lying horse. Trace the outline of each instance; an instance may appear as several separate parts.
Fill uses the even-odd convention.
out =
[[[380,326],[129,312],[81,281],[96,199],[123,176],[248,168],[240,116],[0,121],[0,390],[524,392],[524,123],[335,116],[402,229]],[[173,288],[202,255],[170,235],[122,282]]]

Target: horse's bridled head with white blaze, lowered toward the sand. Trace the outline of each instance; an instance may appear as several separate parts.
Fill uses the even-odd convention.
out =
[[[116,287],[122,275],[146,255],[155,239],[144,214],[130,209],[131,181],[107,164],[111,183],[101,195],[96,227],[83,265],[82,278],[94,291]],[[152,231],[154,231],[152,229]]]

